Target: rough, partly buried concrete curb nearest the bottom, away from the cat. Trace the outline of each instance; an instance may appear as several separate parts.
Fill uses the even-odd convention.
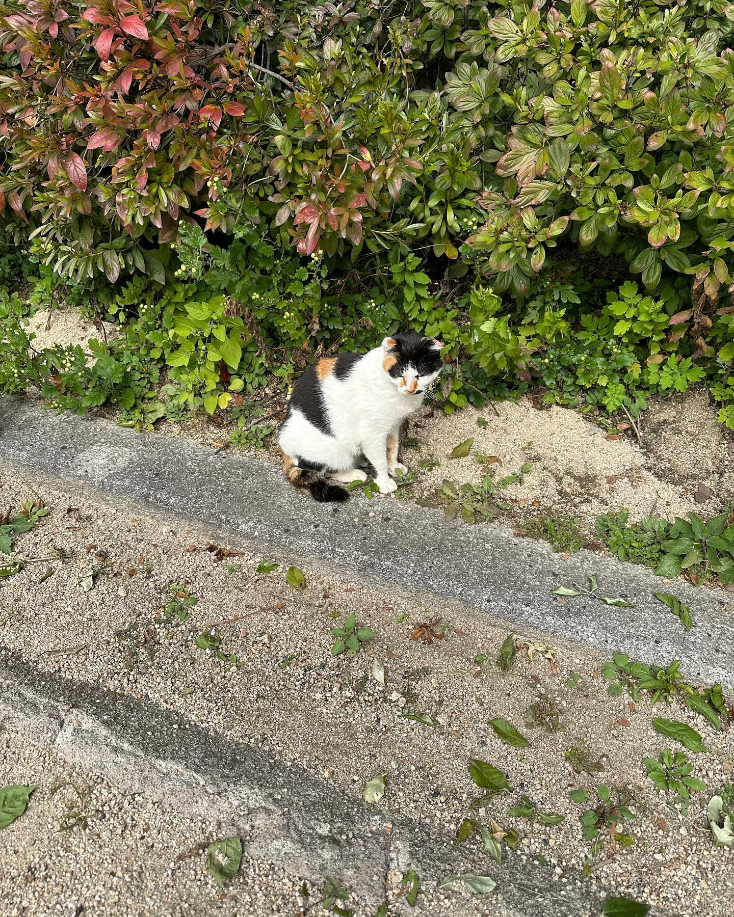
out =
[[[498,917],[586,917],[601,912],[603,896],[573,874],[549,888],[547,867],[511,858],[502,867],[450,835],[339,793],[319,775],[260,748],[192,724],[145,699],[40,671],[0,650],[0,722],[12,724],[67,761],[101,774],[118,790],[139,793],[178,811],[215,813],[222,831],[237,834],[250,856],[267,858],[320,883],[343,878],[371,900],[384,899],[391,869],[416,869],[422,882],[450,873],[492,875]],[[388,834],[384,824],[391,822]],[[462,907],[462,904],[465,907]],[[457,913],[485,913],[456,901]],[[662,914],[662,911],[657,911]]]

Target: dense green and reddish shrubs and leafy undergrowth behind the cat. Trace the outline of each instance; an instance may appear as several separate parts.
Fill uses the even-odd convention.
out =
[[[716,0],[2,3],[0,390],[150,426],[408,325],[447,410],[706,381],[734,427],[733,30]],[[28,358],[59,300],[121,326],[94,367]]]

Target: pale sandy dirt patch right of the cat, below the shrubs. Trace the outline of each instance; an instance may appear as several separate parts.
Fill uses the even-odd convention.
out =
[[[641,447],[633,430],[608,438],[601,419],[566,408],[537,410],[528,402],[495,407],[496,414],[467,408],[411,422],[403,460],[410,469],[428,466],[419,475],[418,494],[434,491],[444,479],[479,484],[489,457],[495,481],[532,466],[522,481],[503,489],[513,514],[575,515],[589,532],[598,514],[623,507],[631,520],[692,510],[712,515],[734,499],[734,437],[717,424],[705,392],[653,405],[639,427]],[[449,458],[469,438],[470,454]]]

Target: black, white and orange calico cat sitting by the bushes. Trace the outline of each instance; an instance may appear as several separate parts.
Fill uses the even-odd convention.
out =
[[[400,426],[438,378],[442,347],[432,337],[402,332],[363,356],[340,353],[306,370],[278,431],[288,481],[315,500],[346,500],[349,492],[326,478],[366,481],[357,468],[366,458],[380,492],[395,491],[395,471],[406,471],[397,460]]]

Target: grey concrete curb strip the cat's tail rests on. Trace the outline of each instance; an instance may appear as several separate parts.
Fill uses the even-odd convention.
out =
[[[19,398],[0,402],[2,463],[67,489],[83,487],[128,510],[455,599],[516,630],[539,630],[607,654],[620,650],[643,662],[677,658],[687,678],[734,689],[734,596],[683,580],[664,586],[651,570],[616,558],[580,551],[564,562],[506,529],[447,523],[438,511],[393,498],[314,503],[256,459],[104,420],[57,416]],[[592,574],[604,594],[636,607],[585,596],[562,604],[551,595],[562,584],[584,587]],[[689,634],[653,598],[662,589],[691,609]]]

